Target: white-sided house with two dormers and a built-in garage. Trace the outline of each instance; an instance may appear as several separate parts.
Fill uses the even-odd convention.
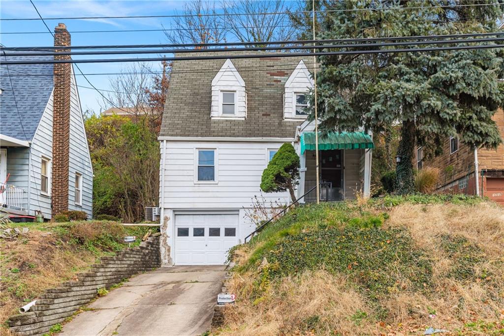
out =
[[[311,131],[305,94],[313,80],[300,57],[174,61],[172,71],[159,136],[162,263],[223,264],[229,248],[243,243],[259,224],[246,215],[256,197],[265,208],[291,202],[288,192],[260,188],[262,173],[282,144],[293,144],[301,158],[298,196],[306,189],[313,160],[309,142],[301,142]],[[347,176],[361,183],[363,153],[346,155],[351,172],[343,165],[324,166],[324,176],[339,169],[340,180]],[[346,197],[344,185],[339,187]]]

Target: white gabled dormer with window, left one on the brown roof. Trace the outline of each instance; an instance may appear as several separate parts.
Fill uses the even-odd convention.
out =
[[[245,82],[227,59],[212,80],[212,119],[245,119],[247,99]]]

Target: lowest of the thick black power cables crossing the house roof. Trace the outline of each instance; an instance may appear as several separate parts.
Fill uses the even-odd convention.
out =
[[[504,41],[504,38],[500,39]],[[447,50],[466,49],[492,49],[503,48],[504,45],[474,45],[474,46],[453,46],[453,47],[428,47],[428,48],[403,48],[403,49],[374,49],[374,50],[346,50],[346,51],[322,51],[322,52],[293,52],[293,53],[261,53],[249,55],[212,55],[212,56],[181,56],[181,57],[137,57],[137,58],[97,58],[97,59],[70,59],[70,60],[18,60],[7,61],[3,64],[58,64],[58,63],[113,63],[113,62],[153,62],[153,61],[179,61],[179,60],[215,60],[215,59],[242,59],[242,58],[282,58],[282,57],[302,57],[302,56],[335,56],[335,55],[356,55],[375,53],[396,53],[396,52],[431,52]]]

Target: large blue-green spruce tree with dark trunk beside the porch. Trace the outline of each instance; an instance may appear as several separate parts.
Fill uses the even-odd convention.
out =
[[[317,14],[317,38],[495,32],[503,5],[494,3],[321,0],[316,3],[317,9],[325,12]],[[306,10],[311,10],[311,0],[306,2]],[[334,10],[344,11],[330,12]],[[292,16],[292,20],[306,27],[301,37],[309,35],[311,19]],[[367,49],[372,48],[376,47]],[[397,191],[411,193],[415,145],[424,146],[426,155],[438,155],[449,136],[458,135],[473,147],[495,148],[501,143],[491,117],[504,98],[504,85],[499,82],[503,78],[503,56],[502,48],[320,56],[317,84],[321,129],[355,130],[364,126],[377,132],[399,122]],[[313,95],[310,99],[313,106]]]

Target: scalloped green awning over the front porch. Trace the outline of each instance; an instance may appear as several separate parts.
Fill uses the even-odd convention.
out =
[[[365,148],[374,148],[371,137],[365,132],[331,132],[325,136],[319,132],[319,151]],[[301,154],[306,150],[315,150],[315,132],[301,133]]]

